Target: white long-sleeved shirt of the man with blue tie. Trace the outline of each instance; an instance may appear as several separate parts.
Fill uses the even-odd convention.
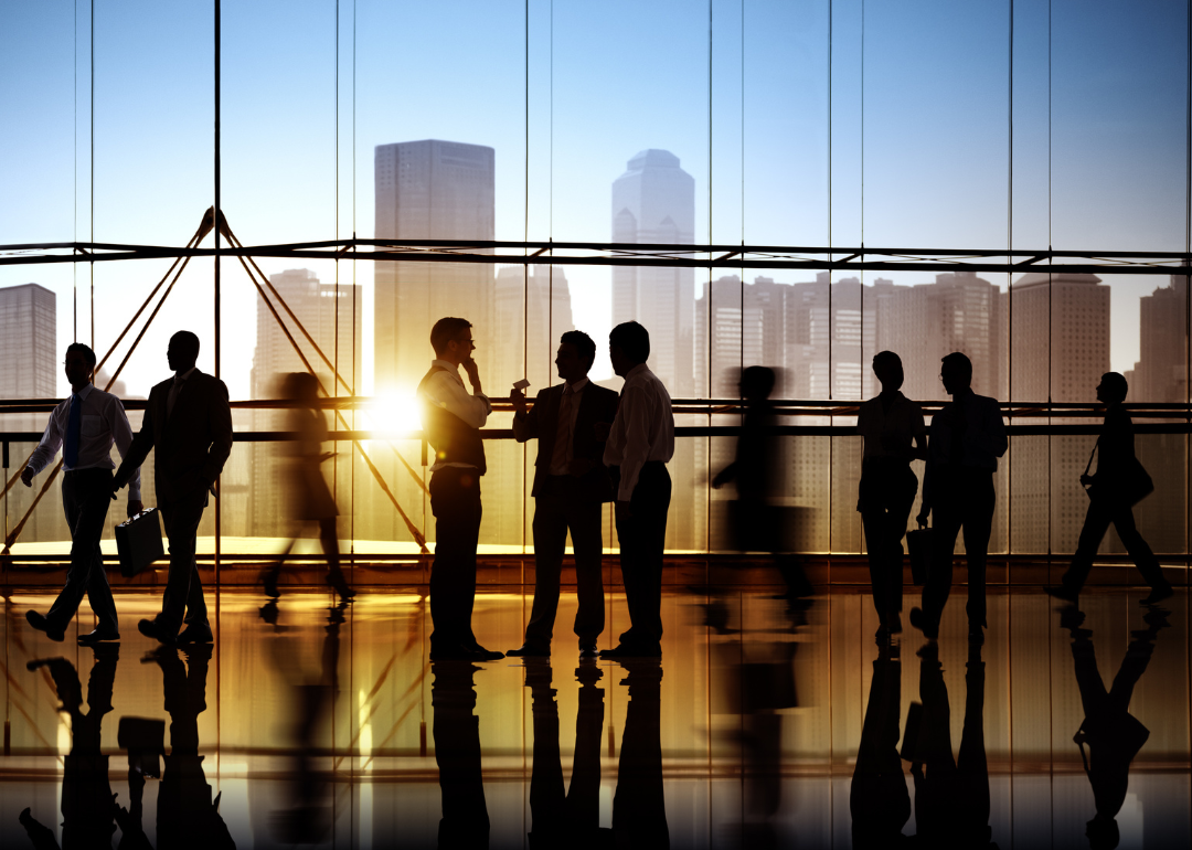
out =
[[[87,384],[74,395],[79,396],[80,404],[82,404],[79,458],[74,466],[63,464],[63,469],[67,472],[114,470],[112,443],[116,443],[122,458],[128,454],[129,446],[132,443],[132,429],[129,427],[129,417],[124,415],[124,405],[119,398],[92,384]],[[54,408],[50,422],[42,434],[42,441],[37,443],[37,448],[33,449],[33,454],[26,464],[35,476],[49,466],[58,449],[62,448],[69,421],[70,398],[67,398]],[[141,501],[141,470],[137,470],[129,482],[129,498],[134,502]]]

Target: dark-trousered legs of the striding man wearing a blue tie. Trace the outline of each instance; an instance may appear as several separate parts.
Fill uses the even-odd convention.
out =
[[[75,470],[62,478],[62,510],[70,527],[70,569],[62,592],[45,616],[46,632],[61,634],[70,625],[83,594],[99,620],[95,632],[119,637],[116,602],[107,584],[99,539],[104,534],[107,509],[112,504],[111,470]]]

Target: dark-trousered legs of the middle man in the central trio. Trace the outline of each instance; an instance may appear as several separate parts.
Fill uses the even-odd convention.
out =
[[[559,575],[567,532],[576,553],[575,632],[579,647],[595,647],[604,631],[604,582],[601,575],[604,539],[601,535],[601,503],[585,496],[577,479],[550,476],[534,501],[534,607],[526,626],[524,647],[536,653],[551,651],[554,615],[559,608]]]

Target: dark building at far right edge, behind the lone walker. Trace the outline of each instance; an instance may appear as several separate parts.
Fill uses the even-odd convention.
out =
[[[1187,401],[1188,279],[1172,275],[1138,302],[1140,359],[1126,373],[1131,402]],[[1155,482],[1155,494],[1135,511],[1138,531],[1156,552],[1187,546],[1187,442],[1182,434],[1140,434],[1135,451]]]

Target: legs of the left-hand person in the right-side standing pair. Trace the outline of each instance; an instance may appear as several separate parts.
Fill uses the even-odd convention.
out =
[[[857,510],[865,529],[874,608],[883,628],[901,631],[902,535],[919,479],[898,459],[870,458],[861,470]]]

